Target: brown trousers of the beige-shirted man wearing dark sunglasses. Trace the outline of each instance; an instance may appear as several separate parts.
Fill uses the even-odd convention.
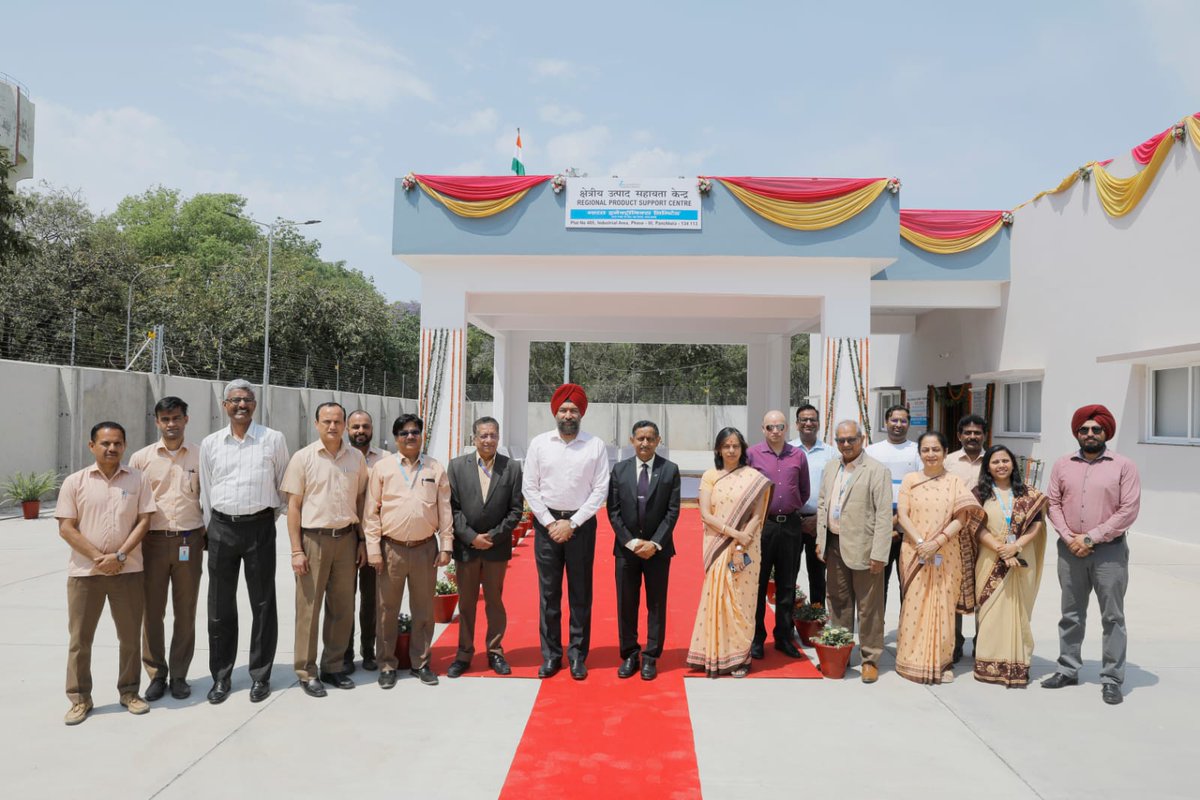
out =
[[[376,584],[379,607],[379,638],[376,661],[379,669],[395,669],[396,622],[400,606],[404,601],[404,584],[408,583],[408,609],[413,615],[413,636],[408,655],[413,669],[430,666],[430,648],[433,645],[433,587],[437,584],[438,546],[431,536],[416,547],[406,547],[384,537],[383,571]],[[476,589],[478,591],[478,589]],[[344,639],[343,639],[344,640]]]

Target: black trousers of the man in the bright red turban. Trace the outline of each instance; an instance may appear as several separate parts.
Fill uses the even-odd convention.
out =
[[[574,512],[553,511],[557,519]],[[563,658],[563,570],[566,570],[566,603],[570,608],[570,640],[566,657],[588,657],[592,643],[592,565],[596,552],[596,519],[592,517],[575,529],[563,543],[550,537],[546,528],[534,521],[534,560],[538,563],[538,588],[541,610],[541,656],[547,661]]]

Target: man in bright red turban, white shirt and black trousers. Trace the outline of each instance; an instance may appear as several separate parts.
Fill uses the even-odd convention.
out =
[[[601,439],[580,431],[588,410],[582,386],[563,384],[550,401],[557,428],[529,443],[522,493],[533,511],[538,563],[542,664],[539,678],[563,666],[563,570],[566,570],[571,678],[588,676],[592,638],[592,565],[596,512],[608,493],[608,451]]]

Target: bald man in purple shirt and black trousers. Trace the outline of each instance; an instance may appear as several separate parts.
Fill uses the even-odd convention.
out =
[[[758,572],[758,603],[754,614],[754,642],[750,656],[762,658],[767,642],[767,581],[772,570],[775,575],[775,649],[791,656],[802,657],[792,637],[792,609],[796,606],[796,575],[800,570],[800,553],[804,543],[800,531],[800,509],[809,499],[809,462],[804,451],[787,444],[787,417],[782,411],[767,411],[762,417],[762,432],[767,438],[750,447],[746,457],[750,465],[772,482],[770,505],[767,522],[762,527],[762,570]]]

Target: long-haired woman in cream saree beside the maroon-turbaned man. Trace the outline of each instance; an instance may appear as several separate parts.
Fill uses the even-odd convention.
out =
[[[988,512],[976,563],[976,680],[1009,688],[1030,682],[1030,615],[1042,583],[1046,495],[1025,486],[1016,457],[1003,445],[983,457],[976,499]]]

